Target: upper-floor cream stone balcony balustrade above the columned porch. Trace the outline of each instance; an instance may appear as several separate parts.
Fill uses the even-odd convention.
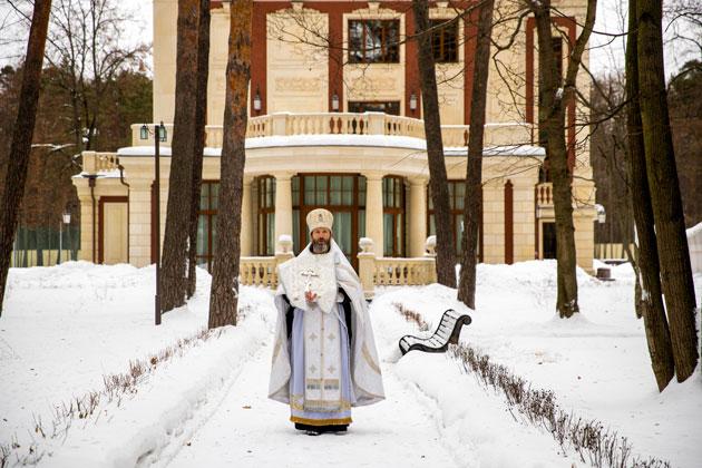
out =
[[[150,146],[153,138],[142,139],[143,124],[131,125],[131,144]],[[148,124],[149,128],[154,124]],[[166,140],[163,146],[170,146],[173,124],[165,124]],[[443,125],[441,135],[445,147],[465,147],[468,145],[468,125]],[[280,113],[260,117],[250,117],[246,138],[298,135],[381,135],[403,136],[425,139],[425,123],[421,119],[391,116],[382,113]],[[205,127],[205,146],[221,148],[223,128],[221,125]],[[487,124],[486,146],[526,145],[532,140],[532,125],[526,123]]]

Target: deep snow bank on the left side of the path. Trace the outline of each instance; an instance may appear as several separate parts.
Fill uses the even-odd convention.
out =
[[[222,398],[236,371],[273,328],[272,293],[242,287],[242,323],[220,338],[159,363],[136,393],[104,398],[99,415],[72,421],[65,439],[42,439],[28,429],[41,420],[50,432],[55,407],[104,388],[107,374],[143,360],[207,325],[211,276],[197,271],[197,293],[154,326],[153,266],[103,266],[69,262],[12,269],[0,321],[0,443],[33,442],[48,466],[135,466],[167,456],[174,438],[206,418],[202,409]],[[50,352],[47,352],[50,350]]]

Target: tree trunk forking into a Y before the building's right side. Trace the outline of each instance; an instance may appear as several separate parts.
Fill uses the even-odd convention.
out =
[[[540,139],[546,146],[546,158],[554,186],[558,283],[556,309],[562,318],[569,318],[578,312],[579,308],[573,224],[573,166],[568,163],[565,116],[568,105],[575,99],[577,71],[593,31],[597,2],[587,0],[585,23],[568,53],[565,78],[559,75],[560,67],[553,50],[552,1],[526,0],[526,3],[536,21],[539,76],[538,128]]]

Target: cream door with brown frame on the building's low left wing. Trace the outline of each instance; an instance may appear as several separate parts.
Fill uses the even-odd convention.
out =
[[[129,262],[129,203],[127,197],[100,197],[99,263]]]

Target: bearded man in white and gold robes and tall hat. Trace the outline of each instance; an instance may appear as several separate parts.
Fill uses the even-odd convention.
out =
[[[351,408],[384,399],[359,276],[332,238],[333,215],[306,217],[311,242],[279,266],[269,398],[290,404],[295,428],[343,432]]]

